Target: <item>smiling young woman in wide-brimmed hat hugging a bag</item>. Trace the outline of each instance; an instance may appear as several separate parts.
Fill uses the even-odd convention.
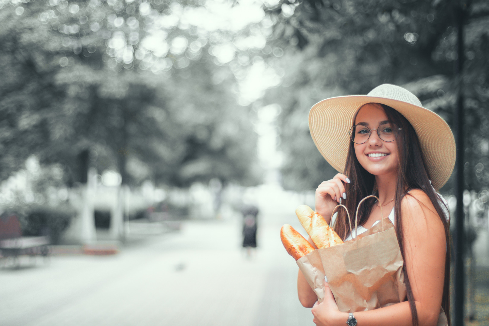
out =
[[[445,121],[422,108],[409,91],[384,84],[368,95],[319,102],[310,112],[311,136],[321,154],[338,171],[316,189],[315,209],[331,224],[338,203],[348,207],[357,233],[384,217],[395,224],[407,298],[404,302],[352,317],[340,312],[325,283],[321,304],[299,271],[299,300],[312,307],[318,326],[451,325],[449,313],[449,225],[445,201],[436,193],[455,164],[455,141]],[[335,231],[352,239],[346,212],[334,216]],[[355,232],[354,232],[355,233]],[[443,308],[443,310],[442,310]],[[445,313],[443,313],[445,312]],[[445,317],[446,315],[446,317]]]

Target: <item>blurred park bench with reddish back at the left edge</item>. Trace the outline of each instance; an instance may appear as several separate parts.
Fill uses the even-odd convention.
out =
[[[50,254],[49,237],[22,237],[19,218],[15,214],[0,216],[0,253],[2,259],[11,259],[12,265],[19,266],[19,256],[47,257]]]

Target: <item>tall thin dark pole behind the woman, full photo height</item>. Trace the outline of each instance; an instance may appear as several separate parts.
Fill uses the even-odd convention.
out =
[[[455,111],[455,130],[457,143],[457,178],[455,182],[455,196],[457,197],[456,227],[455,227],[455,284],[454,284],[454,326],[464,325],[465,304],[465,271],[464,271],[464,98],[463,98],[463,65],[464,65],[464,1],[455,7],[457,20],[458,60],[456,63],[457,78],[457,107]]]

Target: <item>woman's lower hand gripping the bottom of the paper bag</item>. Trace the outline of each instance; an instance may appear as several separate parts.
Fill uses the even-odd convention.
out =
[[[324,300],[320,304],[316,302],[311,312],[314,316],[312,321],[317,326],[343,325],[348,319],[348,313],[338,310],[333,292],[327,282],[324,282]],[[338,323],[343,319],[343,323]]]

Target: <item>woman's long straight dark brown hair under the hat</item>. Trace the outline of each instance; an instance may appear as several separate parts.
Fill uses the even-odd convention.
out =
[[[399,152],[399,168],[398,178],[396,185],[396,194],[394,200],[394,212],[396,216],[396,235],[399,241],[400,252],[404,259],[404,237],[402,233],[402,215],[401,215],[401,200],[412,189],[420,189],[430,198],[431,203],[436,209],[440,219],[443,222],[445,228],[446,237],[446,256],[445,256],[445,280],[443,287],[442,308],[445,311],[448,325],[451,326],[450,320],[450,232],[449,222],[445,218],[445,211],[448,210],[445,207],[445,211],[442,208],[443,203],[440,202],[436,191],[433,189],[430,183],[430,177],[424,164],[424,159],[421,151],[420,141],[414,130],[413,126],[407,121],[407,119],[395,109],[383,104],[372,103],[376,106],[380,106],[387,119],[391,123],[397,124],[401,130],[397,137],[397,147]],[[358,111],[357,111],[358,113]],[[355,124],[355,118],[353,123]],[[358,160],[356,159],[355,148],[353,141],[350,141],[350,147],[348,149],[348,156],[345,165],[345,171],[352,183],[347,183],[346,193],[347,199],[344,204],[348,208],[349,212],[355,212],[358,202],[366,196],[377,195],[377,187],[375,184],[375,176],[365,170]],[[372,200],[367,199],[358,208],[358,225],[364,224],[372,211],[375,198]],[[351,223],[355,225],[355,215],[351,215]],[[348,222],[348,216],[344,210],[340,210],[337,216],[337,222],[334,229],[336,233],[343,240],[349,235],[350,227]],[[404,270],[404,282],[406,284],[407,300],[411,307],[411,316],[413,325],[418,326],[418,312],[414,302],[413,291],[409,282],[409,277],[406,271],[406,264],[403,266]]]

